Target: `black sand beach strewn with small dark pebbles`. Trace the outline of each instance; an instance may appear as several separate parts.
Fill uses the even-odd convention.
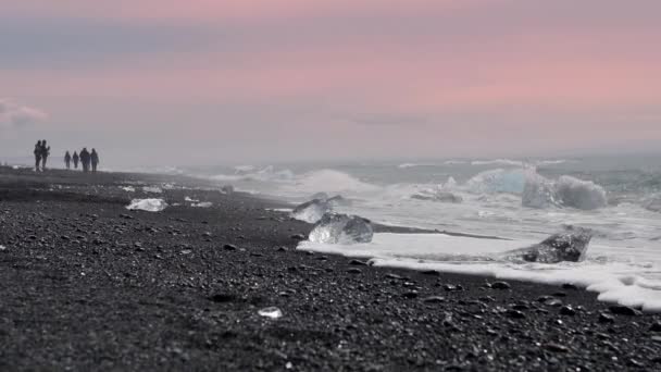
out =
[[[140,186],[164,183],[175,187],[162,197],[180,206],[125,209],[157,196]],[[660,315],[571,286],[491,288],[491,278],[298,251],[310,225],[267,210],[277,202],[214,188],[0,169],[0,369],[661,369]],[[259,315],[266,307],[283,317]]]

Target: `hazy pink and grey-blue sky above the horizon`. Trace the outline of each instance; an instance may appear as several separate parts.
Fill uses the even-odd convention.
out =
[[[0,161],[108,166],[657,150],[658,0],[21,0]]]

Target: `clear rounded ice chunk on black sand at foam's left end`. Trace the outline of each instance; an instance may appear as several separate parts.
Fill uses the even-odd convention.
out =
[[[325,244],[370,243],[374,231],[370,220],[357,215],[326,213],[314,225],[310,241]]]

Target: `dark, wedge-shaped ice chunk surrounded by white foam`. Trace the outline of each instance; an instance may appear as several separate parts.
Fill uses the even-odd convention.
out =
[[[581,262],[585,259],[585,252],[591,238],[591,231],[570,227],[568,232],[551,235],[540,244],[528,248],[511,250],[503,256],[510,261],[523,260],[540,263]]]

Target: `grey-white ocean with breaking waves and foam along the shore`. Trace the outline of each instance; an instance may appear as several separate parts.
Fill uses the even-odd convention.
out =
[[[446,234],[376,234],[370,244],[300,249],[377,265],[573,283],[604,301],[661,311],[661,156],[446,159],[187,169],[187,174],[294,206],[315,194],[374,222]],[[514,263],[495,255],[570,226],[590,228],[584,262]]]

